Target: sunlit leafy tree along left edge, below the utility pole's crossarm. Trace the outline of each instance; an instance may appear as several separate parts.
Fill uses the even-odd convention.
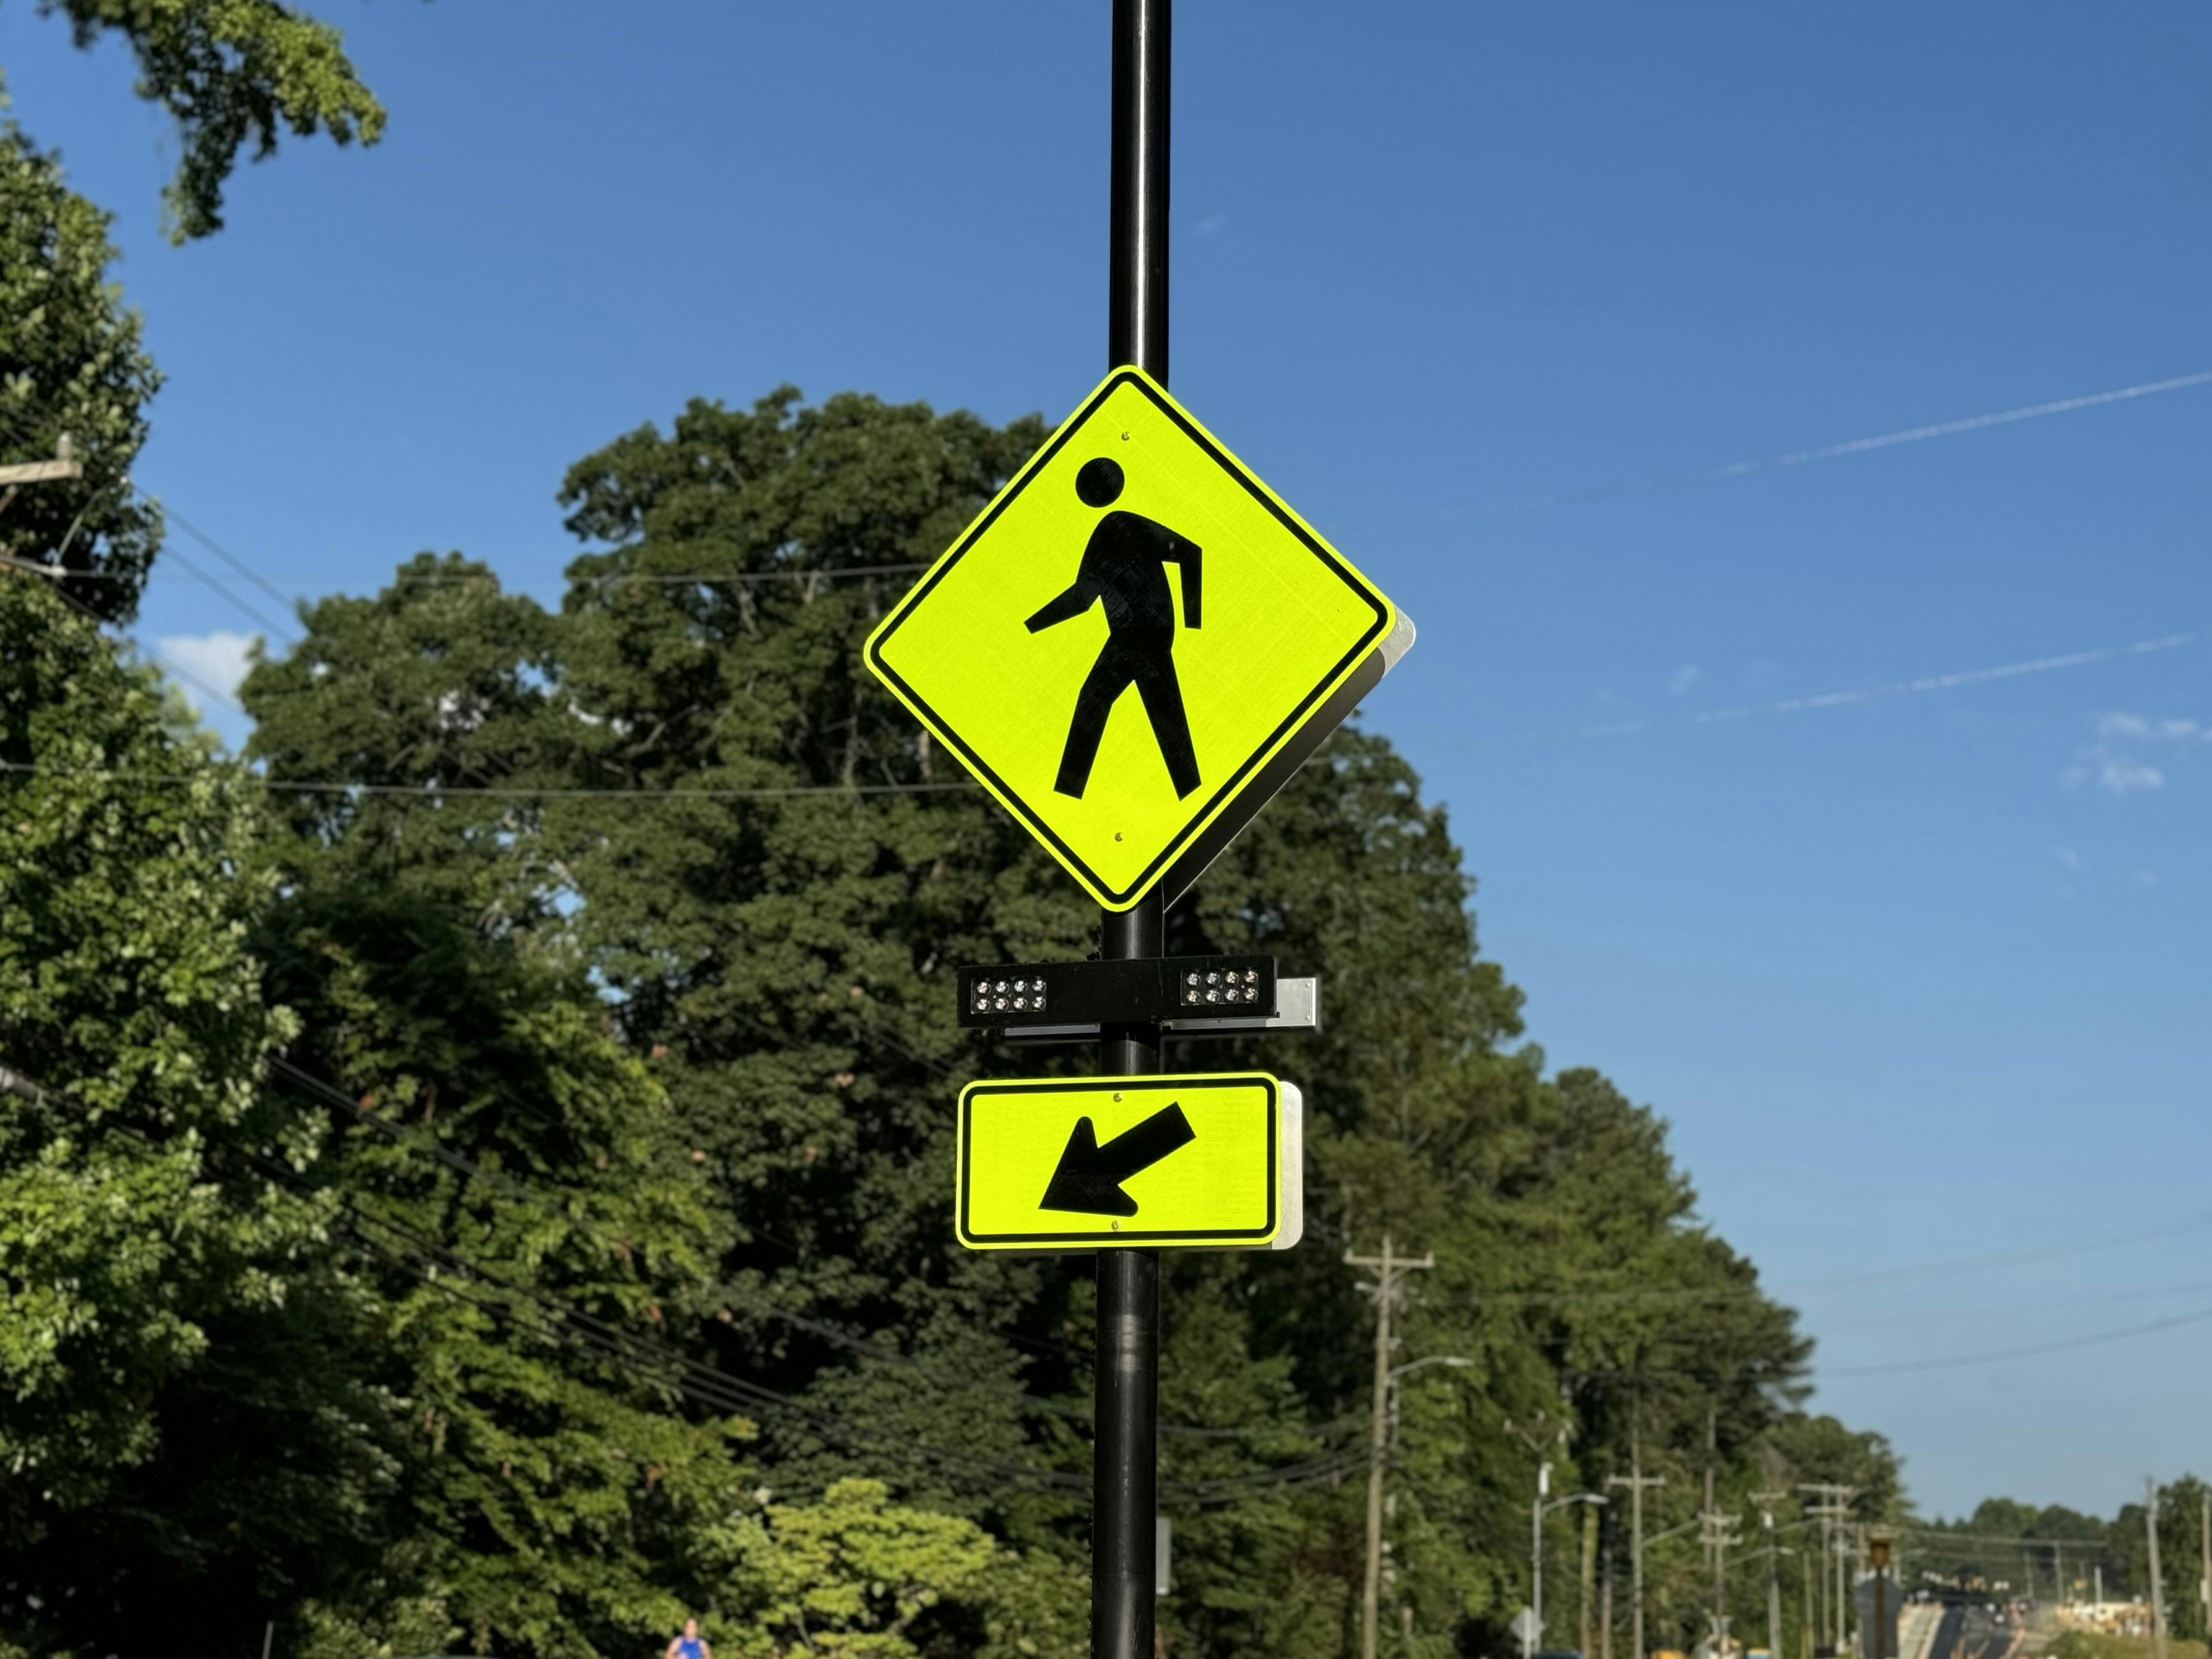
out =
[[[272,885],[241,783],[0,580],[0,1635],[35,1650],[296,1595],[389,1475],[325,1347],[330,1208],[288,1188],[321,1137],[261,1088],[296,1026],[246,949]]]

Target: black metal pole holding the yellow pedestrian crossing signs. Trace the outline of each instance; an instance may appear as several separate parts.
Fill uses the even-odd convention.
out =
[[[1168,378],[1168,9],[1113,4],[1113,204],[1106,365]],[[1099,956],[1164,953],[1159,889],[1104,911]],[[1106,1026],[1099,1071],[1159,1071],[1159,1026]],[[1091,1655],[1152,1659],[1152,1526],[1159,1511],[1159,1256],[1099,1250],[1097,1447],[1091,1469]]]

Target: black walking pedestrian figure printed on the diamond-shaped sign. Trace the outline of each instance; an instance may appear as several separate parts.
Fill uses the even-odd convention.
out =
[[[1099,456],[1075,473],[1075,493],[1086,507],[1110,507],[1121,495],[1121,469]],[[1093,604],[1106,604],[1106,646],[1075,695],[1075,719],[1068,723],[1068,748],[1060,757],[1053,787],[1077,801],[1091,783],[1091,763],[1106,737],[1106,717],[1115,699],[1130,686],[1144,699],[1152,721],[1152,741],[1168,763],[1175,799],[1199,787],[1199,757],[1190,748],[1190,721],[1183,719],[1183,688],[1175,679],[1175,599],[1168,593],[1166,564],[1183,566],[1183,626],[1199,626],[1199,546],[1166,524],[1141,513],[1106,513],[1084,544],[1084,562],[1068,591],[1051,599],[1029,619],[1040,633],[1055,622],[1079,617]]]

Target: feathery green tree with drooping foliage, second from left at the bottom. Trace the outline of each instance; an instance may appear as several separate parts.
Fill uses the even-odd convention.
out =
[[[686,1409],[666,1340],[706,1316],[714,1256],[666,1095],[577,973],[447,905],[301,883],[257,940],[325,1082],[292,1104],[330,1117],[316,1177],[403,1433],[376,1595],[405,1588],[482,1652],[666,1630],[752,1433]]]

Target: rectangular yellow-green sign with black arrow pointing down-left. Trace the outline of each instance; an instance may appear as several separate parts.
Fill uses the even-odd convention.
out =
[[[1283,1084],[1265,1073],[969,1084],[960,1243],[1267,1250],[1283,1232]]]

